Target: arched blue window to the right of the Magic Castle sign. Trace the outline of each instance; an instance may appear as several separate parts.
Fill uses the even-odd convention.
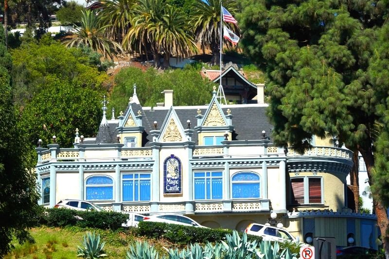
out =
[[[232,198],[259,198],[261,181],[259,175],[251,172],[240,172],[232,176]]]

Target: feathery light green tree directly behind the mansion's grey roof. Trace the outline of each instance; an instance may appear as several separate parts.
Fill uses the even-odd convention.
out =
[[[122,69],[115,77],[115,86],[110,96],[108,111],[115,108],[116,112],[124,111],[128,99],[132,97],[133,85],[137,85],[137,96],[142,106],[156,106],[163,102],[163,90],[174,91],[173,104],[204,105],[212,97],[211,81],[204,80],[195,69],[175,69],[159,73],[153,68],[143,72],[140,68]]]

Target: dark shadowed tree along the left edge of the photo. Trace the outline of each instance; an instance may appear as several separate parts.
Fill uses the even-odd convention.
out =
[[[6,62],[4,62],[6,61]],[[34,226],[39,194],[35,171],[29,160],[24,129],[18,128],[8,67],[10,56],[0,27],[0,257],[19,243],[33,242],[28,228]],[[4,62],[4,63],[3,63]],[[7,66],[4,66],[7,65]]]

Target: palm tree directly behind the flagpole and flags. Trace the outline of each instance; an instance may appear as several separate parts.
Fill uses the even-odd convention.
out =
[[[212,51],[212,64],[220,62],[220,5],[223,5],[232,15],[236,13],[235,0],[196,0],[193,5],[193,24],[195,26],[196,40],[201,48]],[[231,25],[231,23],[229,24]],[[231,31],[239,34],[237,26],[230,26]]]

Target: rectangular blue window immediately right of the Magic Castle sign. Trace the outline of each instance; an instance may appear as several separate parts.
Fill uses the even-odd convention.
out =
[[[222,172],[195,172],[195,200],[222,199]]]

